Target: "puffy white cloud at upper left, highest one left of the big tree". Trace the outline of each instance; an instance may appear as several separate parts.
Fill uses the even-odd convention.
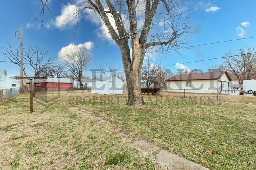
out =
[[[76,6],[67,4],[62,7],[61,9],[61,15],[56,16],[54,20],[54,26],[57,28],[64,30],[67,28],[69,24],[73,24],[72,21],[74,20],[73,14],[77,12]],[[76,20],[75,20],[76,22]]]

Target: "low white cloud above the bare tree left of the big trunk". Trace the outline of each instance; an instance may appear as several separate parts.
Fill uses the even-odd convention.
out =
[[[61,60],[61,58],[63,58],[64,60],[67,60],[66,55],[74,53],[76,51],[77,47],[91,49],[93,47],[93,42],[89,41],[89,42],[85,42],[83,44],[80,43],[78,45],[71,43],[68,46],[61,48],[61,50],[58,53],[59,59]]]

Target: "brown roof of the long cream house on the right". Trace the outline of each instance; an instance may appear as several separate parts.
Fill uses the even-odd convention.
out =
[[[180,75],[174,75],[173,77],[167,79],[166,81],[220,79],[221,76],[224,75],[224,74],[226,74],[228,79],[231,81],[231,78],[228,75],[227,71],[215,71],[215,72],[205,72],[205,73],[180,74]]]

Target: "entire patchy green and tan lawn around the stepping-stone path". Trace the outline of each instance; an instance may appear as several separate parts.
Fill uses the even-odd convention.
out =
[[[1,167],[161,169],[130,144],[145,139],[210,169],[255,169],[256,106],[247,102],[256,98],[222,95],[215,102],[216,95],[183,95],[165,92],[162,102],[143,95],[148,104],[132,107],[126,94],[61,93],[52,104],[35,102],[34,113],[29,95],[19,95],[0,105]],[[91,115],[110,124],[95,124]]]

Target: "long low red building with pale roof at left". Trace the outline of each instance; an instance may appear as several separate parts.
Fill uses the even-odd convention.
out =
[[[69,78],[35,79],[34,88],[37,92],[43,91],[72,91],[73,80]]]

